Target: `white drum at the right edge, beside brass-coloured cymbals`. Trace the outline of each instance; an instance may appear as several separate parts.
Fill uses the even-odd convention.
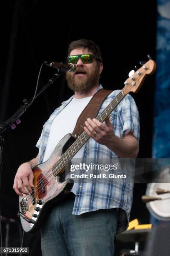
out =
[[[157,189],[170,190],[170,166],[161,170],[157,177],[158,182],[163,183],[150,183],[146,189],[147,196],[161,197],[162,200],[156,200],[146,203],[146,206],[151,215],[158,220],[168,221],[170,220],[170,193],[158,195]],[[167,198],[167,199],[166,199]],[[169,198],[169,199],[168,199]]]

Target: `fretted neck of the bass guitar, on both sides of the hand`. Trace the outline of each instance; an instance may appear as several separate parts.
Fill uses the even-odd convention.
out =
[[[117,107],[120,101],[125,97],[128,92],[125,92],[123,88],[118,95],[110,102],[110,104],[102,111],[100,115],[97,115],[97,120],[101,123],[107,118],[110,113]],[[82,148],[86,141],[90,138],[88,134],[84,131],[77,138],[77,140],[72,143],[72,145],[65,151],[61,158],[52,167],[52,173],[56,177],[60,170],[70,162],[70,160],[77,154],[77,152]]]

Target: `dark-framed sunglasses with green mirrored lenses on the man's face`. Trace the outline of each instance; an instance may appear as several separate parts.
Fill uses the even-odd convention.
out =
[[[72,64],[77,64],[79,59],[81,59],[82,63],[84,64],[92,63],[93,59],[96,59],[100,62],[102,61],[99,57],[93,54],[77,54],[77,55],[68,56],[67,62]]]

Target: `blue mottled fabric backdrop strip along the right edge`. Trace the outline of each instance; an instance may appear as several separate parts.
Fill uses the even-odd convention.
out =
[[[158,0],[153,157],[170,157],[170,1]]]

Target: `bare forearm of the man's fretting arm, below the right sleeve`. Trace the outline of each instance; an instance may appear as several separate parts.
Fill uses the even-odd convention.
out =
[[[127,135],[125,138],[119,138],[114,135],[105,143],[105,146],[121,158],[136,158],[138,156],[139,143],[135,137]]]

